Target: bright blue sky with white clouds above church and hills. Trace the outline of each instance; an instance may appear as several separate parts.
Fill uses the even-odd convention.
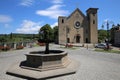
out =
[[[98,29],[106,21],[120,24],[120,0],[0,0],[0,34],[38,33],[50,24],[58,25],[58,16],[69,16],[76,8],[85,15],[88,8],[98,9]]]

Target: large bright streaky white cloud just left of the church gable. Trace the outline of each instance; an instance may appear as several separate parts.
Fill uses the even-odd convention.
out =
[[[64,5],[53,5],[46,10],[38,10],[36,14],[41,16],[47,16],[52,19],[57,19],[58,16],[65,16],[68,14],[68,11],[60,9]]]

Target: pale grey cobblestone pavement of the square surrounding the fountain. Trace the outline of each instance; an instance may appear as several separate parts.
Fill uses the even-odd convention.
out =
[[[67,51],[71,59],[79,61],[80,67],[76,74],[46,80],[120,80],[120,54],[95,52],[82,47],[65,49],[53,44],[50,49]],[[26,80],[7,75],[6,70],[12,64],[25,60],[24,54],[36,50],[44,50],[44,47],[0,52],[0,80]]]

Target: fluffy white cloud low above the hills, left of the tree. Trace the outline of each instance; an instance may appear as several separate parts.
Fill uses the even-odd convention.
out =
[[[38,33],[40,29],[39,22],[33,22],[30,20],[23,20],[20,28],[16,29],[18,33]]]

